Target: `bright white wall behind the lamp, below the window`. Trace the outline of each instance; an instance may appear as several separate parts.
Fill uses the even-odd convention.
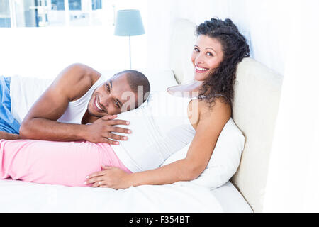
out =
[[[114,1],[116,10],[139,9],[147,31],[147,1]],[[113,11],[109,12],[113,15]],[[0,74],[52,78],[68,65],[82,62],[99,71],[127,70],[128,37],[114,27],[0,28]],[[131,37],[132,67],[146,67],[145,35]]]

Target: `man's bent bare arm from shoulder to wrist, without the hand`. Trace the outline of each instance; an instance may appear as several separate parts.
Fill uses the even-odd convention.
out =
[[[21,138],[39,140],[81,140],[85,126],[59,123],[69,101],[77,94],[85,94],[91,87],[89,70],[84,65],[74,64],[65,68],[23,119]]]

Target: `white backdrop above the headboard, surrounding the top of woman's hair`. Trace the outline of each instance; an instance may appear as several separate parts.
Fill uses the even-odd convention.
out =
[[[251,41],[251,56],[284,74],[291,18],[289,0],[163,0],[148,6],[147,66],[169,68],[167,47],[172,21],[187,18],[196,24],[213,17],[231,18]],[[152,16],[152,18],[151,18]],[[160,21],[160,23],[159,23]],[[157,55],[152,55],[156,50]],[[190,50],[191,52],[191,50]]]

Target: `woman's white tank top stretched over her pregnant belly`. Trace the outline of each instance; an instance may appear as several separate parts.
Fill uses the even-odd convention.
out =
[[[132,133],[120,145],[111,145],[125,167],[132,172],[152,170],[193,140],[195,130],[187,108],[191,99],[168,92],[151,92],[138,109],[118,114],[130,121]],[[118,133],[120,135],[124,135]]]

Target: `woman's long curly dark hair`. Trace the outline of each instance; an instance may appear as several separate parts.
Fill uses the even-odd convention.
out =
[[[232,106],[237,65],[244,57],[250,57],[247,40],[229,18],[225,21],[212,18],[201,23],[196,27],[196,35],[216,38],[223,50],[223,61],[203,82],[198,100],[214,104],[216,96],[223,96],[223,101]]]

